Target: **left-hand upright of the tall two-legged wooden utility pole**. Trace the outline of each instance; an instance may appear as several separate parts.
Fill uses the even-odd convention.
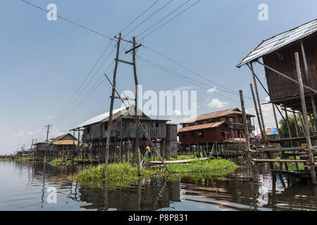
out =
[[[105,152],[105,162],[104,162],[104,177],[107,176],[107,169],[108,169],[108,161],[109,161],[109,145],[110,145],[110,138],[111,138],[111,128],[112,128],[112,114],[113,114],[113,101],[115,96],[116,90],[116,75],[118,70],[118,60],[119,60],[119,53],[120,53],[120,41],[121,41],[121,33],[119,34],[118,44],[117,44],[117,54],[116,54],[116,65],[113,70],[113,88],[111,94],[111,103],[110,103],[110,110],[109,110],[109,121],[108,121],[108,129],[107,129],[107,136],[106,136],[106,152]]]

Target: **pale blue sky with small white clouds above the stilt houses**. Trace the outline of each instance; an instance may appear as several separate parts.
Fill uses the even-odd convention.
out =
[[[123,36],[168,1],[159,0],[124,30]],[[195,1],[189,1],[173,15]],[[113,37],[154,4],[155,0],[30,2],[42,8],[55,4],[57,15]],[[185,2],[171,1],[125,39],[131,40]],[[115,58],[114,42],[108,46],[110,40],[106,37],[61,18],[49,21],[46,12],[21,0],[4,0],[0,4],[0,154],[13,153],[23,144],[25,148],[30,148],[32,139],[44,141],[46,124],[53,125],[49,138],[54,138],[95,115],[108,112],[111,86],[103,74],[106,72],[109,77],[113,76],[111,63]],[[259,20],[260,4],[268,6],[267,21]],[[242,90],[244,96],[251,96],[249,84],[252,79],[249,68],[244,66],[238,69],[235,65],[263,39],[316,19],[316,8],[315,0],[306,0],[304,3],[294,0],[202,0],[156,32],[137,41],[185,65],[211,82],[140,47],[137,50],[138,56],[200,83],[197,86],[197,83],[174,77],[137,58],[139,84],[142,84],[144,91],[157,93],[166,90],[197,91],[198,115],[227,108],[241,108],[238,92]],[[165,21],[168,18],[161,24]],[[106,46],[108,49],[94,68]],[[131,47],[128,43],[123,43],[123,46],[127,49]],[[123,58],[124,55],[120,56]],[[102,65],[106,56],[109,56],[108,60]],[[125,59],[131,60],[131,57],[126,56]],[[266,86],[263,68],[255,66],[255,71]],[[201,88],[201,83],[205,89]],[[97,89],[94,84],[99,85]],[[220,91],[222,86],[236,94]],[[130,65],[120,63],[118,66],[117,87],[119,92],[134,90]],[[80,91],[72,98],[79,88]],[[259,94],[261,99],[269,100],[263,89],[259,89]],[[253,101],[246,98],[245,103],[247,113],[254,113]],[[115,101],[114,108],[120,106],[121,103]],[[263,114],[266,127],[275,127],[271,105],[263,105]],[[173,122],[185,120],[177,115],[170,119]]]

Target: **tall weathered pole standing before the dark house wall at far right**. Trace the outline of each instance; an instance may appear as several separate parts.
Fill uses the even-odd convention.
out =
[[[302,72],[299,65],[299,54],[298,52],[295,53],[295,60],[296,60],[296,68],[297,68],[297,77],[299,81],[299,91],[302,100],[302,110],[303,110],[303,117],[304,117],[304,128],[306,131],[306,141],[307,141],[307,148],[309,150],[309,162],[311,166],[311,181],[313,184],[316,184],[316,172],[315,172],[315,164],[313,162],[313,150],[311,147],[311,136],[309,132],[309,123],[307,119],[307,109],[306,109],[306,102],[305,102],[305,93],[304,93],[304,86],[302,81]]]

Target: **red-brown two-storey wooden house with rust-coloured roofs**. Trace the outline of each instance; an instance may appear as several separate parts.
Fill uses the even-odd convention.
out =
[[[249,131],[254,130],[251,118],[247,114]],[[242,111],[239,108],[221,110],[214,113],[199,115],[196,119],[184,122],[178,130],[181,145],[222,142],[232,138],[244,138]]]

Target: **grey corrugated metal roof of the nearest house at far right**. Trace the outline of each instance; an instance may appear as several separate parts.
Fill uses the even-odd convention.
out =
[[[249,55],[244,58],[237,67],[240,68],[246,63],[266,56],[273,51],[277,51],[288,44],[292,44],[294,41],[299,41],[300,39],[308,37],[315,32],[317,32],[317,19],[282,34],[278,34],[275,37],[267,39],[259,44],[259,46],[257,46],[254,51],[251,51],[251,53],[249,53]]]

